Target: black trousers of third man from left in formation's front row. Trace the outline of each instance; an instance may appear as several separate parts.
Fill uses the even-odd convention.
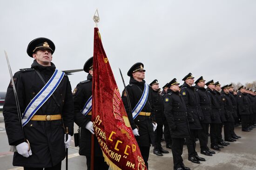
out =
[[[201,123],[202,129],[198,130],[198,139],[200,142],[201,151],[209,151],[208,144],[208,133],[209,133],[209,123]]]

